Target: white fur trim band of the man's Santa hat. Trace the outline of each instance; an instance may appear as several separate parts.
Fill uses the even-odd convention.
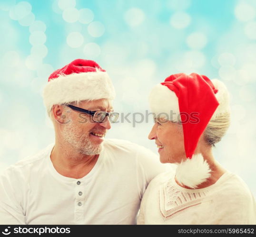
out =
[[[44,105],[49,113],[54,104],[81,100],[115,98],[114,86],[106,72],[60,75],[47,83],[43,91]]]

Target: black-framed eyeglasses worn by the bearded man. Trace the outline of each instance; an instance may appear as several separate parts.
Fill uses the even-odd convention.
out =
[[[77,110],[80,112],[90,114],[92,116],[92,120],[97,123],[103,123],[105,121],[105,119],[107,118],[107,116],[109,118],[110,123],[115,123],[119,117],[119,113],[116,113],[116,112],[108,113],[108,112],[101,111],[101,110],[91,111],[91,110],[82,109],[82,108],[79,108],[79,107],[76,107],[76,106],[70,105],[70,104],[68,104],[67,106],[70,109],[74,109],[74,110]]]

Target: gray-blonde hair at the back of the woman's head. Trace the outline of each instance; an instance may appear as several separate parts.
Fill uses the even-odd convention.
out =
[[[210,120],[204,132],[207,144],[215,146],[215,144],[225,135],[229,125],[229,112],[219,114],[214,119]]]

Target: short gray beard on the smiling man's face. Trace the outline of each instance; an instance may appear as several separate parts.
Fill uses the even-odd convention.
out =
[[[63,140],[72,146],[77,152],[82,155],[98,155],[103,144],[93,144],[89,138],[89,134],[80,134],[72,122],[65,124],[62,131]]]

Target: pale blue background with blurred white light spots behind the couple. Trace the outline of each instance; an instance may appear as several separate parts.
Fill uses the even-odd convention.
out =
[[[1,0],[0,32],[0,171],[54,142],[42,88],[87,58],[111,76],[123,113],[145,114],[150,89],[170,74],[222,80],[232,121],[214,154],[256,196],[255,0]],[[151,126],[114,124],[107,137],[157,153]]]

